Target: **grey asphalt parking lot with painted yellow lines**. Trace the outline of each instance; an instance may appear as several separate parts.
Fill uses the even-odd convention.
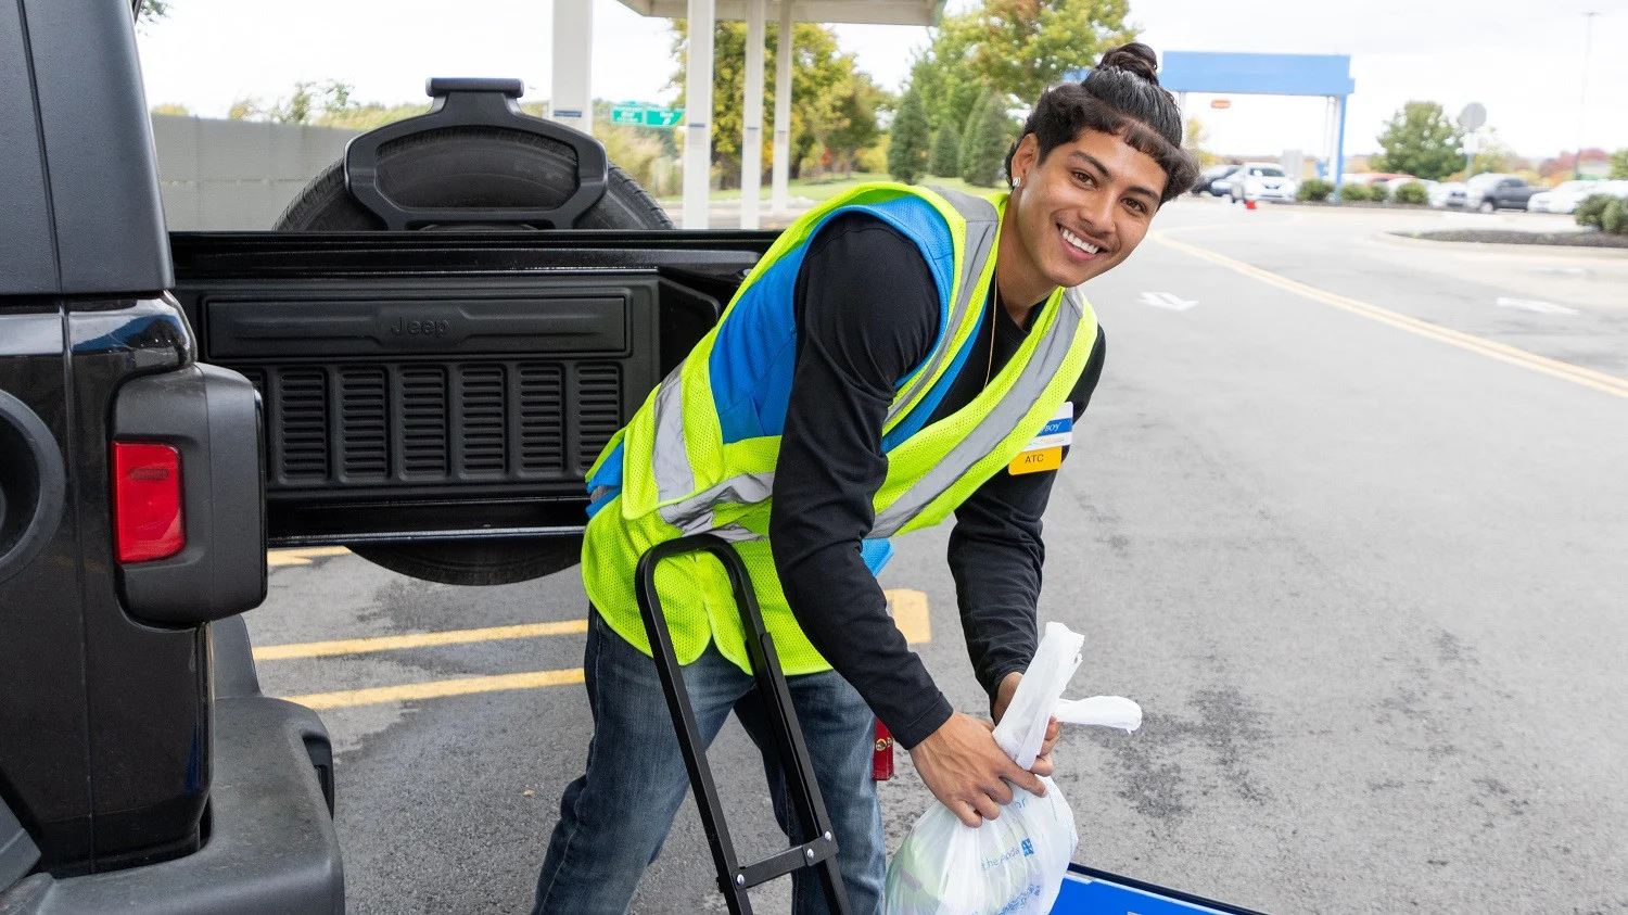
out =
[[[1088,637],[1073,694],[1146,725],[1065,734],[1076,860],[1268,912],[1628,912],[1628,252],[1387,234],[1464,220],[1565,217],[1182,200],[1088,287],[1109,360],[1040,619]],[[882,584],[983,713],[946,539]],[[589,738],[575,573],[272,562],[247,622],[335,739],[350,910],[526,908]],[[731,725],[711,759],[767,852],[755,751]],[[899,762],[891,848],[931,799]],[[687,803],[633,910],[723,910],[711,881]]]

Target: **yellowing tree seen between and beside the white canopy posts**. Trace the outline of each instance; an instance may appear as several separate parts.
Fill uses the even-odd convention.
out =
[[[773,117],[778,88],[780,23],[764,29],[764,112]],[[825,26],[798,23],[791,31],[791,177],[801,173],[801,163],[821,142],[819,129],[832,125],[845,81],[853,77],[853,55],[840,54],[837,36]],[[689,60],[689,21],[672,23],[672,55],[677,70],[667,81],[679,90],[676,104],[684,106],[684,86]],[[711,143],[713,164],[723,173],[726,186],[741,179],[741,134],[746,124],[746,23],[721,21],[713,29],[713,111]],[[773,129],[765,125],[762,161],[773,161]]]

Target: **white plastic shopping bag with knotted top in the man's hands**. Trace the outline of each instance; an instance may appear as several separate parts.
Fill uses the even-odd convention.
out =
[[[995,728],[995,742],[1019,765],[1034,765],[1055,715],[1073,725],[1135,731],[1141,708],[1128,698],[1099,695],[1061,700],[1079,668],[1084,637],[1047,624],[1011,705]],[[1001,816],[972,829],[933,801],[887,866],[887,915],[1047,915],[1068,873],[1079,837],[1074,812],[1050,778],[1045,796],[1013,788]]]

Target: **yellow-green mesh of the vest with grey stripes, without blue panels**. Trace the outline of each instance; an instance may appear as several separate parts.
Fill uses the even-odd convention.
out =
[[[954,239],[951,303],[934,352],[900,386],[884,431],[904,420],[949,370],[951,355],[977,331],[995,275],[1000,217],[1006,195],[990,199],[902,184],[869,184],[838,195],[793,223],[759,260],[724,309],[731,319],[752,285],[835,212],[855,205],[918,195],[944,218]],[[622,488],[588,523],[583,583],[606,622],[650,655],[650,641],[633,596],[633,570],[650,547],[685,534],[715,532],[734,541],[757,591],[764,622],[786,674],[830,669],[786,606],[767,539],[778,436],[724,443],[708,379],[715,327],[684,363],[650,394],[628,425],[606,446],[589,471],[615,449],[622,454]],[[1057,290],[1035,327],[1006,366],[970,404],[920,428],[887,451],[887,477],[874,497],[873,537],[889,537],[938,524],[985,480],[1006,467],[1068,399],[1097,337],[1096,314],[1078,288]],[[708,641],[742,671],[751,671],[741,620],[723,567],[692,554],[661,563],[656,589],[666,611],[681,664],[702,655]]]

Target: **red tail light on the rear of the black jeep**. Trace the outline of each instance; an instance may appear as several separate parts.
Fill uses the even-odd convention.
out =
[[[173,557],[187,545],[181,521],[181,453],[168,444],[112,446],[112,518],[119,562]]]

